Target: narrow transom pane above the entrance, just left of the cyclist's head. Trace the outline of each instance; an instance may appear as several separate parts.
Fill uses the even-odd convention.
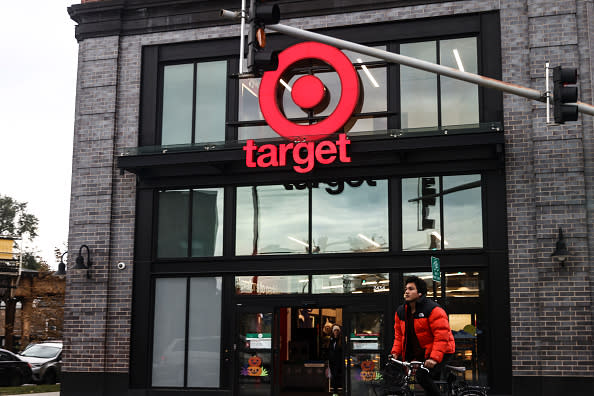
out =
[[[380,274],[325,274],[312,276],[312,293],[384,293],[390,291],[390,277]]]

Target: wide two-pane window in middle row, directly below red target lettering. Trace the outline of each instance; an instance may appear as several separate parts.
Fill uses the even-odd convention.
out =
[[[236,212],[237,255],[389,250],[387,180],[239,187]]]

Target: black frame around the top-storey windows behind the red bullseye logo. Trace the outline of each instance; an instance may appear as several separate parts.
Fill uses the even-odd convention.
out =
[[[427,18],[422,20],[397,21],[384,24],[350,26],[325,29],[322,31],[334,37],[359,42],[364,45],[385,45],[391,52],[399,53],[399,46],[407,42],[420,42],[436,40],[436,53],[439,60],[439,41],[463,37],[477,38],[477,68],[481,75],[501,78],[501,54],[499,40],[493,37],[499,29],[497,13],[484,13],[480,15],[456,15],[447,17]],[[377,37],[384,37],[381,42]],[[269,45],[273,49],[283,49],[297,40],[271,35]],[[206,54],[206,55],[205,55]],[[176,43],[143,47],[142,75],[141,75],[141,114],[139,146],[159,146],[161,142],[161,111],[162,111],[162,84],[163,65],[208,62],[227,60],[227,70],[230,78],[227,80],[226,103],[226,128],[225,141],[237,140],[239,126],[264,125],[261,120],[239,121],[238,100],[239,84],[235,83],[236,71],[239,60],[237,57],[236,39],[224,38],[217,40],[204,40],[191,43]],[[367,64],[368,62],[364,62]],[[370,62],[369,64],[373,64]],[[383,62],[380,62],[383,63]],[[356,114],[355,116],[387,117],[388,129],[401,128],[400,120],[400,71],[398,65],[387,66],[387,109],[386,112],[370,112]],[[441,97],[439,87],[436,94]],[[496,90],[478,88],[479,122],[498,121],[502,118],[502,93]],[[193,118],[195,114],[193,115]],[[441,126],[441,104],[438,103],[438,127]]]

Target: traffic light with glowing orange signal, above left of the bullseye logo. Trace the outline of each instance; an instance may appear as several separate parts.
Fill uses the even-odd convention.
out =
[[[280,20],[277,4],[264,4],[263,0],[251,0],[249,11],[247,70],[261,76],[278,67],[278,53],[265,49],[265,25],[275,25]]]

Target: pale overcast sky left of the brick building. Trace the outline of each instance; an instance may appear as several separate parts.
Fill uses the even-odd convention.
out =
[[[57,268],[68,239],[78,45],[75,0],[2,1],[0,194],[28,203],[39,236],[28,243]]]

